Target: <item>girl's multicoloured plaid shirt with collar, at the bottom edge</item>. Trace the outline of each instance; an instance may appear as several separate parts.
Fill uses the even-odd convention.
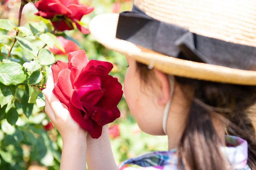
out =
[[[247,163],[247,142],[242,138],[226,135],[226,147],[221,148],[231,166],[235,170],[250,170]],[[178,170],[178,157],[175,154],[176,149],[162,152],[152,152],[138,157],[134,157],[122,162],[119,169],[126,164],[134,164],[145,167],[145,170]],[[181,167],[184,169],[183,167]],[[123,170],[138,170],[137,168],[124,168]]]

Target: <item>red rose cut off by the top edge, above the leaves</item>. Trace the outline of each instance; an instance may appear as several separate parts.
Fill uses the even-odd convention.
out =
[[[72,22],[74,22],[82,33],[90,33],[88,29],[82,27],[77,21],[80,21],[85,14],[93,11],[94,7],[81,4],[78,0],[41,0],[37,1],[35,6],[38,9],[35,14],[50,19],[54,27],[57,27],[57,30],[73,30]]]

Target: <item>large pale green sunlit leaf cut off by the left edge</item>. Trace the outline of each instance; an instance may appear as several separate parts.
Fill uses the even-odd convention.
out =
[[[0,63],[0,82],[5,85],[16,85],[26,80],[23,67],[16,62]]]

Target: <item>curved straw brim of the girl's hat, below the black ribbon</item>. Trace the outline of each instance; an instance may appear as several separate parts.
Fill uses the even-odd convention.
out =
[[[115,37],[119,14],[101,14],[89,25],[91,34],[102,45],[123,53],[138,62],[152,65],[155,69],[174,76],[220,83],[256,85],[256,72],[218,65],[192,62],[162,55]]]

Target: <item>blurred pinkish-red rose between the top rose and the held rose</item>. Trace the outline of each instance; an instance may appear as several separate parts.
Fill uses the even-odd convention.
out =
[[[65,39],[63,37],[57,37],[58,41],[60,42],[61,46],[64,48],[65,53],[58,49],[55,45],[53,48],[50,48],[50,52],[53,54],[68,54],[69,52],[79,51],[80,48],[77,44],[75,44],[73,41],[70,41],[68,39]]]

